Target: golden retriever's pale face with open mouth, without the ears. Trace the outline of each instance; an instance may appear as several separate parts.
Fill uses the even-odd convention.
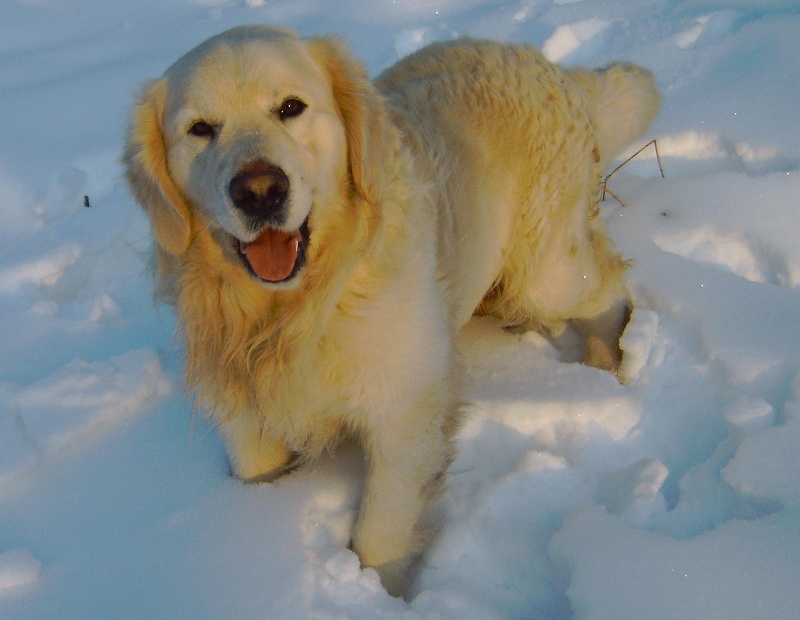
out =
[[[166,78],[175,183],[254,276],[294,280],[312,205],[334,198],[346,162],[327,75],[302,42],[277,33],[223,40],[181,59]]]

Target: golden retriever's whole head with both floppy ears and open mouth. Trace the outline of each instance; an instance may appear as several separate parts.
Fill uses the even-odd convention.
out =
[[[198,231],[269,288],[293,288],[325,211],[374,203],[383,111],[329,39],[247,26],[213,37],[149,84],[133,110],[127,178],[158,246]]]

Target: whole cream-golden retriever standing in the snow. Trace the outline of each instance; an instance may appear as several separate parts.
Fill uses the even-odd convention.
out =
[[[626,263],[598,191],[658,106],[630,64],[459,39],[373,82],[340,40],[267,26],[145,85],[126,177],[233,473],[270,481],[357,436],[352,549],[406,591],[454,455],[470,317],[573,323],[587,364],[619,367]]]

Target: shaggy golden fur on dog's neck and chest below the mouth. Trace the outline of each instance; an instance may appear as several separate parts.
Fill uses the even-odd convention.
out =
[[[326,331],[352,305],[348,290],[375,232],[367,223],[339,231],[345,238],[337,243],[317,238],[325,250],[312,250],[290,290],[263,286],[226,260],[210,234],[195,233],[187,255],[172,261],[168,286],[184,335],[187,387],[198,404],[225,417],[262,409],[265,400],[282,407],[312,389],[301,384],[319,374]]]

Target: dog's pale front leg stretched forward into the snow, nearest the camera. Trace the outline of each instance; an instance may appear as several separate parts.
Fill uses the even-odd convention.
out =
[[[410,585],[415,560],[434,531],[429,514],[452,460],[448,390],[435,388],[410,411],[384,413],[365,429],[366,489],[353,549],[394,596]]]

